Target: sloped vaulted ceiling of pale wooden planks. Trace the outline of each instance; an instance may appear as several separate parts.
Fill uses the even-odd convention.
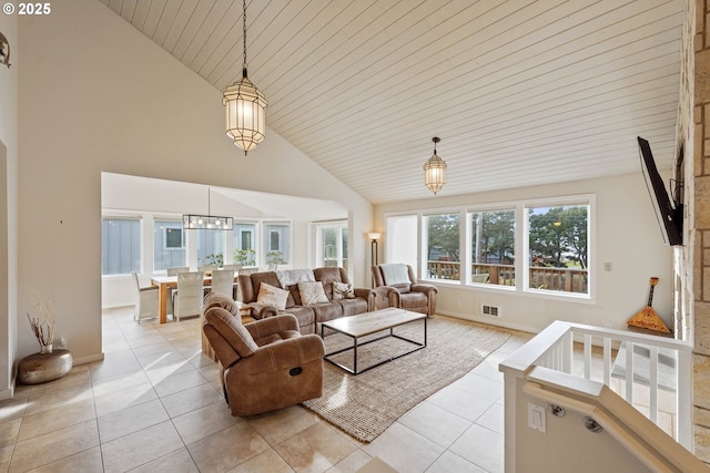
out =
[[[223,90],[241,0],[100,0]],[[374,204],[670,168],[682,0],[248,0],[267,126]],[[268,135],[266,136],[268,140]]]

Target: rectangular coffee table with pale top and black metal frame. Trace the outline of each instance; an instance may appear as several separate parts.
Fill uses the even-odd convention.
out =
[[[361,313],[357,316],[351,317],[342,317],[339,319],[329,320],[327,322],[321,323],[321,338],[324,338],[324,330],[331,329],[338,333],[343,333],[353,339],[353,346],[343,348],[331,353],[325,353],[323,357],[324,360],[335,364],[336,367],[347,371],[351,374],[359,374],[367,370],[372,370],[381,364],[384,364],[388,361],[396,360],[397,358],[402,358],[405,354],[409,354],[414,351],[422,350],[426,347],[426,315],[412,312],[404,309],[388,308],[382,310],[375,310],[374,312]],[[414,322],[416,320],[424,320],[424,341],[412,340],[394,332],[394,328],[398,326],[403,326],[405,323]],[[377,333],[381,331],[387,331],[387,333],[382,337],[374,338],[372,340],[364,341],[358,343],[358,339]],[[385,360],[378,361],[375,364],[371,364],[367,368],[357,369],[357,347],[362,347],[363,345],[373,343],[377,340],[382,340],[387,337],[394,337],[399,340],[407,341],[412,343],[414,347],[410,350],[407,350],[403,353],[399,353],[395,357],[389,357]],[[353,368],[351,369],[347,366],[338,363],[332,359],[333,356],[337,353],[342,353],[344,351],[353,350]]]

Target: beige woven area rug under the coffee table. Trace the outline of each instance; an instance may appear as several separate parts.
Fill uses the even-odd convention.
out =
[[[422,341],[423,323],[397,327],[395,333]],[[324,362],[323,395],[302,405],[355,439],[372,442],[409,409],[468,373],[508,337],[480,323],[429,317],[426,348],[357,376]],[[352,339],[331,335],[325,346],[332,352],[352,346]],[[392,337],[359,347],[358,369],[409,348],[410,343]],[[352,351],[337,357],[352,368]]]

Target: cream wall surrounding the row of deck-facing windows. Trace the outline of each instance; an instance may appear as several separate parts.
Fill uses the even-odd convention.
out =
[[[595,300],[570,301],[562,297],[439,284],[437,312],[534,332],[554,320],[623,329],[626,321],[646,306],[649,278],[658,276],[653,308],[672,327],[672,248],[662,243],[640,169],[636,175],[379,205],[375,219],[378,228],[385,228],[387,213],[578,194],[595,194],[597,202],[596,253],[589,261],[597,271]],[[611,271],[604,271],[605,263],[611,263]],[[481,304],[500,307],[503,315],[480,315]]]

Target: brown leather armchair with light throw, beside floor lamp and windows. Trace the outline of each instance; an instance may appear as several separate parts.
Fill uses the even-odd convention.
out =
[[[438,288],[417,282],[414,268],[404,264],[373,266],[375,308],[397,307],[413,312],[434,315]]]

